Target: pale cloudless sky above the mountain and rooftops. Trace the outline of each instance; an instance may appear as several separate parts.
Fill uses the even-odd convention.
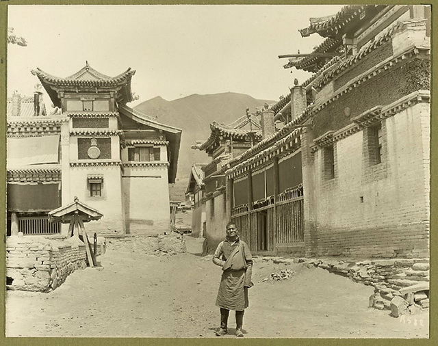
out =
[[[278,101],[305,71],[278,55],[310,53],[324,38],[301,38],[310,17],[341,5],[9,5],[8,96],[31,96],[41,68],[73,75],[86,62],[104,75],[132,68],[138,101],[238,92]],[[292,74],[291,74],[292,72]]]

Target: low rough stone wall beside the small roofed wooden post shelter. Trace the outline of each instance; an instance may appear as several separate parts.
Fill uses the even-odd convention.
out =
[[[105,239],[98,239],[98,244],[100,255],[105,252]],[[76,237],[12,236],[6,241],[7,289],[51,291],[73,271],[86,267],[85,244]]]

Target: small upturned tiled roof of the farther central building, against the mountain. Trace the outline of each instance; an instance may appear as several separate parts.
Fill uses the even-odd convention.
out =
[[[261,130],[259,128],[248,130],[248,129],[235,129],[224,124],[219,124],[218,122],[212,122],[210,124],[211,133],[208,139],[203,143],[196,143],[192,146],[192,149],[209,151],[213,148],[220,139],[231,138],[240,141],[249,141],[250,136],[253,135],[256,142],[261,141]]]

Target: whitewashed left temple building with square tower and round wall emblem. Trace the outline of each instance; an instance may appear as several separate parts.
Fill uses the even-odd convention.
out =
[[[47,213],[75,197],[104,215],[93,232],[168,230],[181,130],[127,106],[135,71],[108,77],[86,64],[65,78],[31,72],[55,110],[47,114],[41,88],[8,99],[8,235],[65,233]]]

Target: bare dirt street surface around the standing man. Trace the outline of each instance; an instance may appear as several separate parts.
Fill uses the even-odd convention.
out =
[[[221,269],[211,255],[114,250],[55,291],[8,291],[6,336],[218,338]],[[281,269],[287,280],[266,280]],[[425,338],[428,314],[396,319],[368,308],[373,288],[320,268],[255,258],[245,338]],[[408,317],[408,316],[406,316]],[[409,321],[411,323],[409,323]],[[231,312],[229,335],[236,338]]]

